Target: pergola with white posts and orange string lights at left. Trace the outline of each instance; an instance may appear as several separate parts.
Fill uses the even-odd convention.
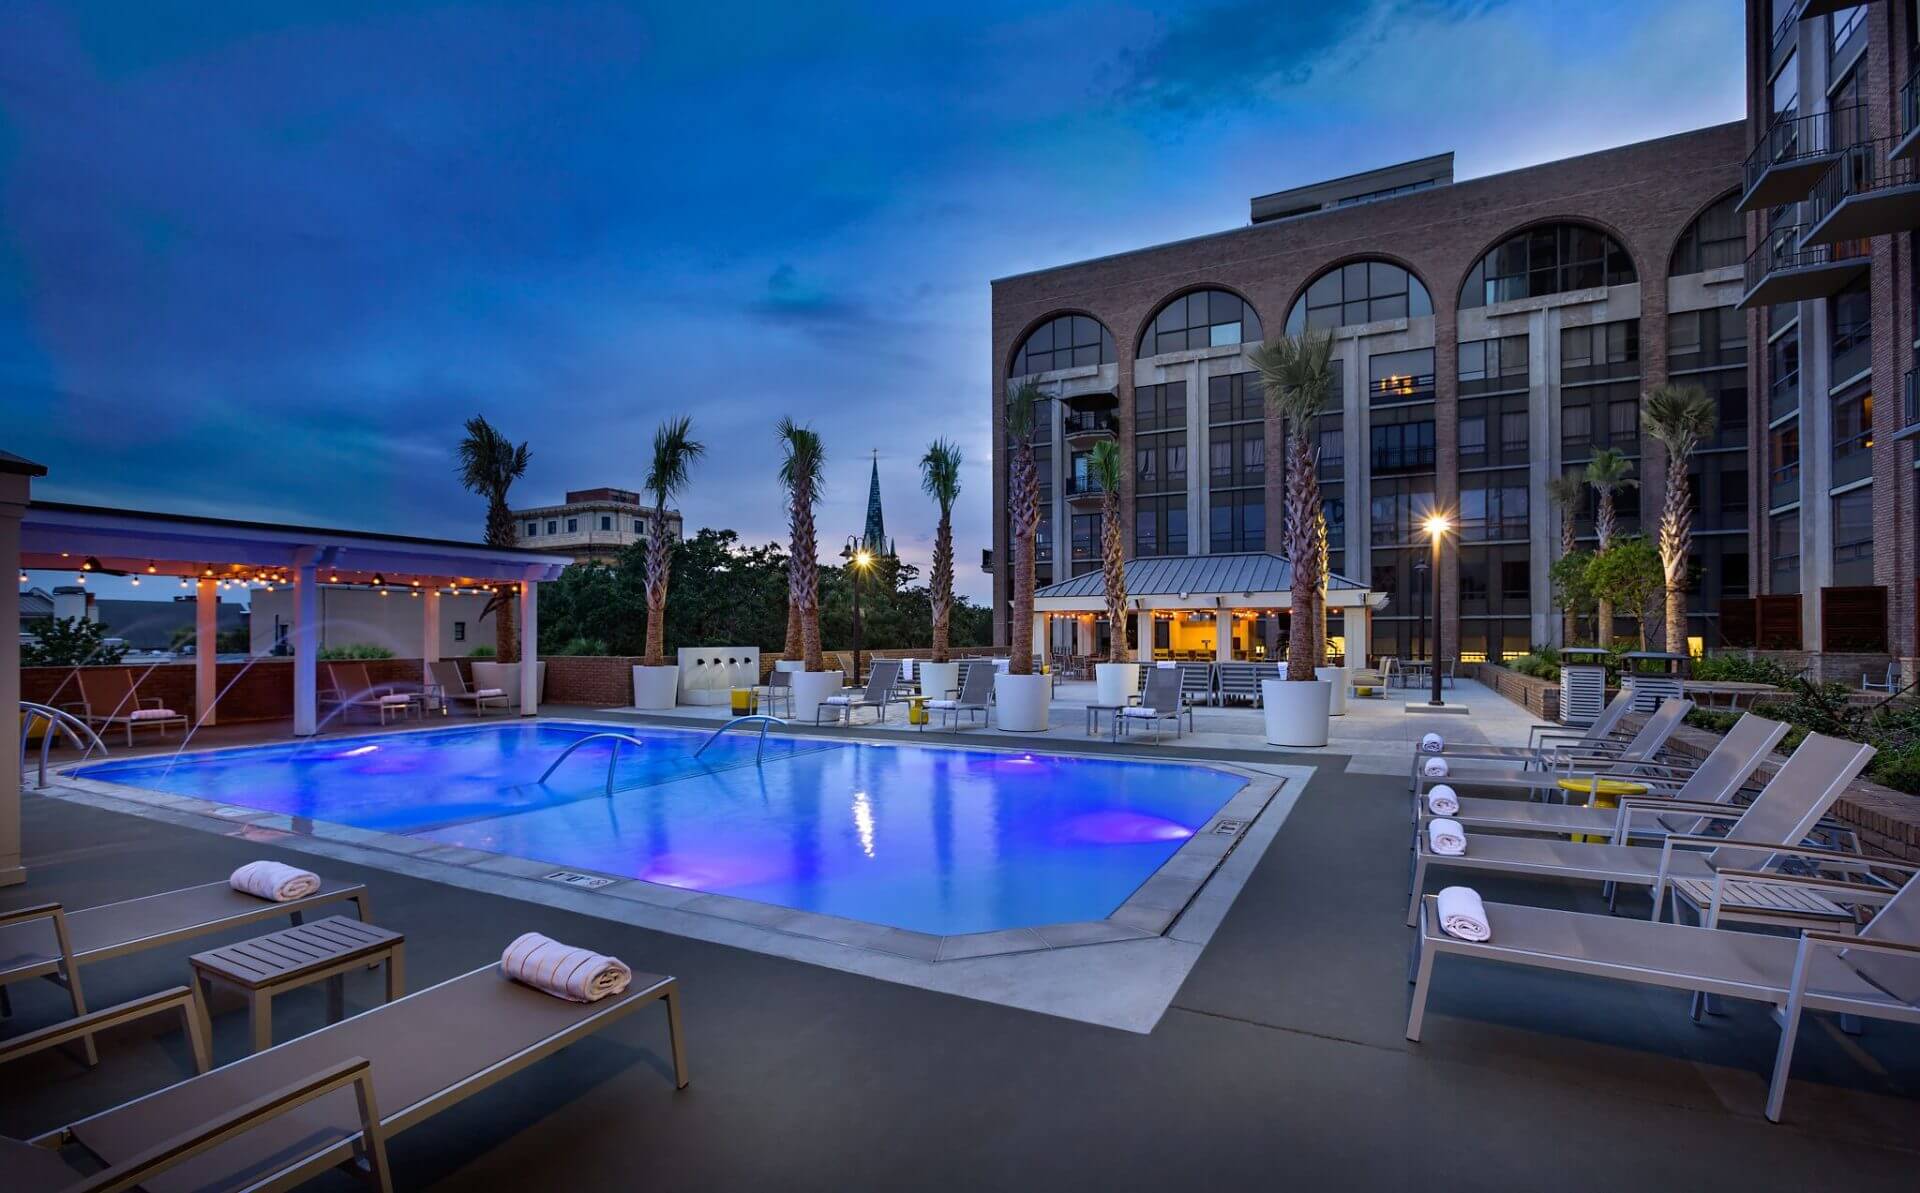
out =
[[[288,642],[294,647],[294,734],[311,736],[319,703],[321,584],[365,584],[419,594],[426,661],[440,657],[440,596],[461,590],[507,592],[520,619],[520,659],[540,642],[538,582],[572,563],[566,555],[490,548],[470,542],[284,526],[136,509],[31,501],[31,480],[46,469],[0,451],[0,567],[125,574],[196,592],[194,722],[211,724],[223,584],[286,584],[294,592]],[[19,624],[19,592],[0,586],[0,622]],[[19,705],[19,636],[0,634],[0,707]],[[520,713],[540,705],[540,669],[520,669]],[[19,768],[0,768],[0,886],[25,880],[19,864]]]

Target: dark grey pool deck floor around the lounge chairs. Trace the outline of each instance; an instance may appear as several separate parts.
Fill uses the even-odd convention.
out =
[[[248,736],[215,732],[221,743]],[[1242,757],[1261,753],[1273,757]],[[1390,767],[1384,749],[1369,759],[1371,774],[1332,753],[1284,759],[1315,772],[1150,1034],[659,932],[563,899],[328,861],[330,876],[367,882],[376,918],[407,934],[415,989],[540,930],[676,974],[687,999],[689,1089],[674,1093],[664,1076],[664,1026],[634,1016],[396,1137],[396,1187],[1914,1187],[1916,1028],[1876,1022],[1851,1037],[1809,1022],[1780,1126],[1761,1116],[1778,1035],[1751,1003],[1693,1024],[1680,993],[1442,961],[1425,1043],[1407,1043],[1405,761]],[[0,891],[0,907],[132,897],[253,857],[315,861],[271,836],[69,799],[29,793],[23,813],[29,884]],[[1605,911],[1590,888],[1480,888]],[[1644,914],[1644,903],[1622,901],[1622,913]],[[108,1005],[179,984],[200,947],[94,966],[88,995]],[[355,974],[349,1009],[372,1005],[378,984]],[[52,986],[15,986],[13,1005],[0,1032],[63,1014]],[[319,989],[286,995],[276,1022],[311,1030],[323,1007]],[[215,1055],[238,1055],[244,1034],[244,1012],[217,1005]],[[106,1037],[96,1070],[40,1055],[8,1066],[0,1132],[46,1130],[186,1072],[171,1030]],[[311,1187],[359,1185],[330,1174]]]

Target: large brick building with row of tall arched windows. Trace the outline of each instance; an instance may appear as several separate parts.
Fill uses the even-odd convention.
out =
[[[1755,567],[1734,209],[1747,133],[1728,123],[1461,183],[1444,154],[1260,196],[1248,227],[995,280],[995,442],[1010,378],[1054,396],[1035,434],[1039,584],[1098,569],[1100,494],[1083,457],[1106,436],[1133,465],[1129,555],[1277,551],[1281,426],[1246,352],[1327,329],[1340,380],[1319,423],[1332,569],[1390,596],[1369,653],[1425,653],[1417,530],[1430,507],[1461,528],[1442,563],[1442,649],[1473,661],[1557,640],[1548,480],[1622,448],[1642,480],[1624,528],[1651,530],[1665,465],[1638,409],[1668,378],[1720,407],[1693,465],[1692,605],[1693,632],[1718,644],[1720,605],[1749,597]],[[1004,463],[996,642],[1012,572]],[[1590,503],[1578,513],[1590,536]],[[1056,647],[1091,649],[1104,624],[1054,632],[1083,638]]]

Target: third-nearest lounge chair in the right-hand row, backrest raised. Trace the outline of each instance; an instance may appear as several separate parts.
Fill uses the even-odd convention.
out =
[[[1498,828],[1503,832],[1551,832],[1551,834],[1605,834],[1615,843],[1626,843],[1628,836],[1699,832],[1705,828],[1697,816],[1688,816],[1686,807],[1705,803],[1722,807],[1759,770],[1761,761],[1788,736],[1788,726],[1780,720],[1766,720],[1745,713],[1720,738],[1699,770],[1690,774],[1678,788],[1649,799],[1622,799],[1620,807],[1582,807],[1571,803],[1542,803],[1532,799],[1488,799],[1463,797],[1457,813],[1448,813],[1450,820],[1459,820],[1465,828]],[[1667,784],[1647,784],[1661,791]],[[1425,801],[1415,797],[1415,816],[1425,811]],[[1647,811],[1657,809],[1657,811]]]

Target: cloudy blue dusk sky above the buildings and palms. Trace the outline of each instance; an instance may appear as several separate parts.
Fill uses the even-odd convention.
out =
[[[468,415],[536,503],[637,488],[685,411],[689,524],[768,540],[791,413],[822,538],[877,450],[922,563],[914,465],[958,440],[968,561],[991,279],[1740,113],[1730,0],[10,0],[0,446],[58,499],[472,538]]]

